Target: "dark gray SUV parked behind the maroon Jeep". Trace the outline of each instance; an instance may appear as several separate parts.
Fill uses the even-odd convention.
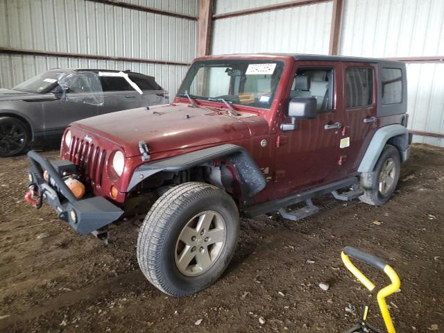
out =
[[[0,89],[0,157],[31,142],[60,139],[69,123],[120,110],[169,103],[153,76],[107,69],[51,69]]]

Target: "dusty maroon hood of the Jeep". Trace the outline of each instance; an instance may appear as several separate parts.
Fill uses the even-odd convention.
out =
[[[108,139],[121,146],[127,156],[135,156],[140,155],[139,141],[142,140],[151,153],[157,153],[247,139],[251,136],[251,125],[247,125],[246,119],[250,120],[249,124],[252,119],[259,122],[255,133],[258,126],[262,132],[268,130],[268,123],[254,114],[232,117],[210,108],[191,108],[185,104],[103,114],[76,121],[72,126]]]

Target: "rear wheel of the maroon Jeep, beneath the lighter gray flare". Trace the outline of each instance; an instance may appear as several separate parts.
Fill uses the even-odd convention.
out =
[[[393,195],[400,178],[400,153],[397,148],[387,144],[379,156],[373,172],[361,175],[364,195],[359,199],[370,205],[384,205]]]

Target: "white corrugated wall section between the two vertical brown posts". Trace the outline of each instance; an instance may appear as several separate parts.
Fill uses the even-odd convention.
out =
[[[239,9],[239,3],[245,6],[247,2],[264,5],[267,1],[216,1],[216,10]],[[216,19],[212,34],[212,54],[327,54],[331,21],[332,2]]]

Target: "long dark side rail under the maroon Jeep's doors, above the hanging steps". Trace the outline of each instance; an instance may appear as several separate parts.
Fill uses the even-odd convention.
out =
[[[337,191],[338,189],[345,189],[345,188],[350,189],[350,187],[357,187],[357,186],[359,186],[359,178],[357,177],[346,178],[343,180],[339,180],[337,182],[332,182],[330,184],[325,184],[319,187],[308,189],[306,191],[298,192],[297,194],[291,194],[291,196],[287,196],[286,198],[275,199],[272,201],[268,201],[266,203],[262,203],[260,205],[245,207],[244,210],[242,210],[242,216],[247,218],[253,218],[268,212],[282,210],[284,207],[295,205],[296,203],[302,203],[316,196],[323,196],[325,194],[330,194],[332,193],[332,191]],[[286,211],[284,211],[284,214],[285,213]]]

